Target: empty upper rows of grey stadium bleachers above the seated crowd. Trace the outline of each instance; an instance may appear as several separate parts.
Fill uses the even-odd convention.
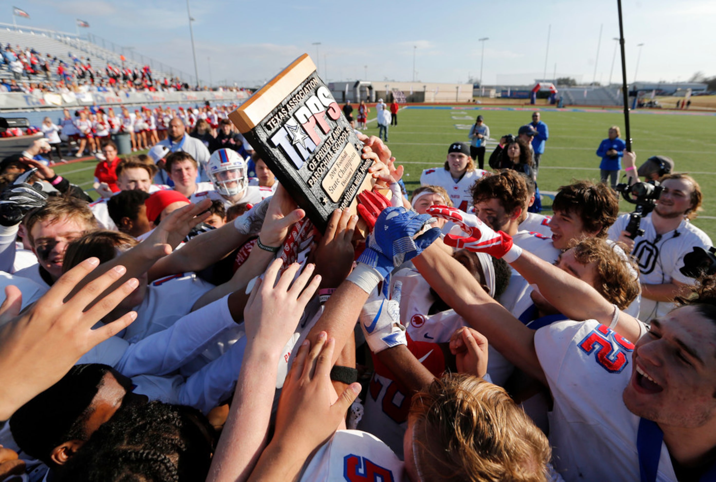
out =
[[[122,60],[120,59],[121,52],[104,49],[92,42],[79,39],[76,35],[59,31],[29,29],[25,27],[18,27],[17,30],[14,30],[13,26],[0,24],[0,43],[3,46],[8,43],[13,47],[19,45],[23,49],[29,47],[38,51],[42,56],[47,56],[47,54],[57,56],[58,60],[64,61],[69,66],[72,66],[72,58],[69,56],[70,52],[74,56],[82,58],[83,61],[89,57],[92,67],[97,71],[104,70],[105,67],[107,67],[107,62],[118,67],[122,66]],[[140,55],[135,52],[134,57],[137,58],[137,56]],[[127,59],[125,59],[124,65],[125,67],[130,67],[130,69],[137,68],[141,70],[145,64],[149,64],[152,68],[152,77],[154,79],[171,78],[179,74],[179,72],[173,69],[166,69],[166,66],[156,66],[158,62],[147,62],[150,61],[150,59],[147,58],[144,59],[145,64],[142,64],[141,62],[131,60],[128,54],[126,54],[125,57],[127,57]],[[161,67],[165,67],[165,69],[162,70],[160,69]],[[57,70],[57,68],[54,70]],[[56,77],[55,72],[52,72],[52,74],[53,77]],[[0,66],[0,77],[11,77],[11,73],[4,64]],[[184,80],[186,81],[188,79]]]

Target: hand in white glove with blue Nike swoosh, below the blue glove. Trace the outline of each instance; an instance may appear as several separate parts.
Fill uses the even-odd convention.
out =
[[[370,297],[360,312],[360,328],[373,353],[397,345],[407,345],[405,326],[400,323],[402,282],[393,285],[390,299],[383,295]]]

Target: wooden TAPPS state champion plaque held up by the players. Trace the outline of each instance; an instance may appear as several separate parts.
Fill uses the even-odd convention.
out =
[[[228,117],[321,232],[334,210],[355,212],[358,193],[374,185],[362,142],[308,54]]]

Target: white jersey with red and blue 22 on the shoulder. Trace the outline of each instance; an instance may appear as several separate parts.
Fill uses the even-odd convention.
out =
[[[621,399],[634,345],[596,320],[568,320],[537,330],[535,348],[554,400],[556,471],[566,481],[638,481],[639,417]],[[657,481],[675,480],[662,443]]]

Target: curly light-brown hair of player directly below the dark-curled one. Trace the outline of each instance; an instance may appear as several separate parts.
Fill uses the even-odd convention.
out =
[[[587,237],[571,249],[574,258],[582,265],[596,263],[594,289],[619,310],[627,308],[639,295],[639,271],[637,265],[626,255],[620,254],[615,246],[599,237]]]

